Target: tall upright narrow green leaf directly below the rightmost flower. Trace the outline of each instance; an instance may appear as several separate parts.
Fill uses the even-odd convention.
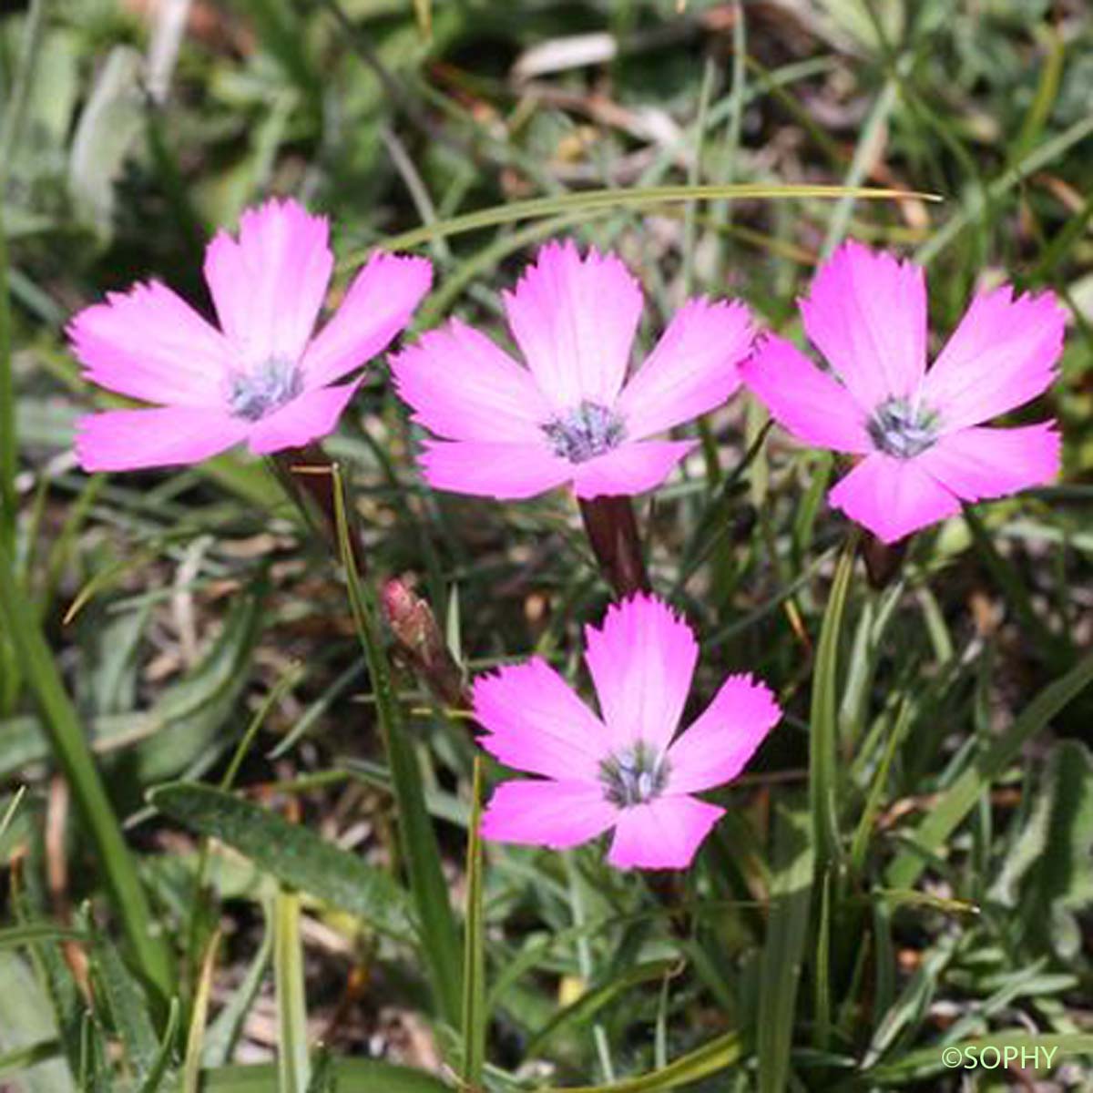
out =
[[[813,841],[821,868],[839,856],[838,838],[838,643],[843,632],[846,593],[854,573],[857,536],[851,536],[831,587],[816,645],[812,675],[811,732],[809,736],[809,803]]]

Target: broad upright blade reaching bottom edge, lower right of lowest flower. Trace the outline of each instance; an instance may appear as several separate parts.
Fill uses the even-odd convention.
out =
[[[761,1093],[781,1093],[789,1073],[815,866],[811,833],[803,811],[777,813],[771,912],[760,959],[755,1035]]]

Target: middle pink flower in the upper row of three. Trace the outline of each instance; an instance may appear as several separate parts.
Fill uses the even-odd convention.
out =
[[[740,304],[692,299],[630,379],[642,290],[611,255],[551,243],[505,293],[528,367],[453,320],[391,362],[425,445],[431,485],[498,498],[573,482],[578,497],[659,485],[693,447],[650,440],[722,403],[751,346]]]

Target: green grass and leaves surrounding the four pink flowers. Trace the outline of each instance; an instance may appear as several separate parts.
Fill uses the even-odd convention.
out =
[[[196,3],[145,84],[136,7],[10,7],[0,1083],[940,1090],[943,1047],[1032,1036],[1093,1080],[1093,13]],[[670,889],[599,845],[481,845],[500,771],[376,590],[415,578],[471,674],[538,651],[584,689],[610,590],[572,498],[431,493],[381,363],[327,442],[326,524],[242,454],[93,481],[70,458],[75,416],[120,403],[68,317],[151,277],[208,308],[207,237],[270,192],[331,216],[336,290],[376,245],[432,259],[410,337],[504,338],[500,292],[553,236],[624,257],[643,346],[689,293],[798,338],[846,237],[927,265],[933,349],[977,285],[1051,289],[1060,378],[1014,421],[1058,416],[1065,473],[917,537],[877,591],[824,501],[842,468],[733,399],[636,515],[702,639],[689,713],[749,670],[786,719]]]

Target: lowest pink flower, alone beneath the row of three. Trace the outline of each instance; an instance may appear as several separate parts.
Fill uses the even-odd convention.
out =
[[[602,717],[539,657],[474,681],[482,747],[544,779],[498,786],[482,834],[563,849],[613,827],[613,866],[683,869],[725,811],[692,794],[734,778],[781,710],[762,683],[730,675],[673,741],[698,658],[686,623],[636,596],[585,637]]]

